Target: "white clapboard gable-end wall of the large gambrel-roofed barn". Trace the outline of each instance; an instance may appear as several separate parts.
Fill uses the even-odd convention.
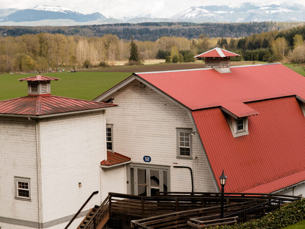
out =
[[[192,191],[190,171],[173,168],[189,166],[195,170],[192,159],[176,158],[176,128],[195,131],[187,111],[149,87],[140,87],[138,81],[110,97],[119,105],[106,111],[106,122],[114,128],[114,151],[131,157],[133,163],[144,163],[143,156],[147,155],[151,156],[148,165],[171,166],[171,191]],[[193,156],[197,156],[195,191],[216,191],[198,133],[192,139]]]

